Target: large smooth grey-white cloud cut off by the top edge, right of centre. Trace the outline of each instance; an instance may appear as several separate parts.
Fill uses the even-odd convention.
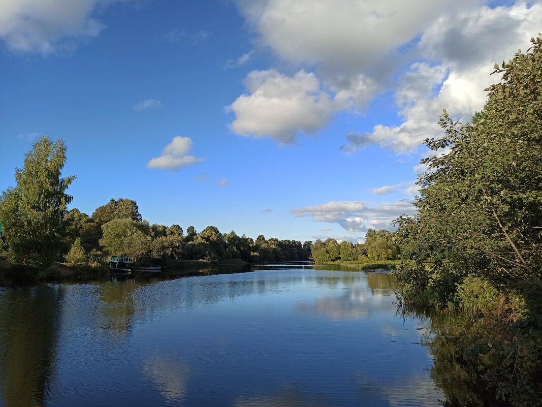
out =
[[[443,11],[473,0],[237,0],[257,42],[296,65],[359,72],[421,34]]]

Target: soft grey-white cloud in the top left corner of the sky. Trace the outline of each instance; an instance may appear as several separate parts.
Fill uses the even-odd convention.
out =
[[[96,9],[121,0],[3,0],[0,39],[13,51],[50,54],[105,28]],[[125,0],[129,1],[129,0]]]

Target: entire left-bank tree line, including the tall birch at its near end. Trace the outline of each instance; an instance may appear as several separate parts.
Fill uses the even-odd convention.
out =
[[[238,236],[222,233],[215,226],[197,232],[178,224],[149,224],[133,199],[111,199],[91,216],[67,209],[72,196],[66,193],[75,176],[61,177],[66,163],[62,140],[51,143],[47,136],[26,154],[23,169],[17,169],[14,188],[0,197],[0,250],[12,264],[43,268],[54,261],[83,263],[88,255],[108,259],[130,256],[137,261],[239,259],[251,263],[306,261],[312,242]]]

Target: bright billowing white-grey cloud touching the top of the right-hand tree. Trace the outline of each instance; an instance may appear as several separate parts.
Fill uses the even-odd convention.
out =
[[[469,121],[485,104],[483,89],[500,79],[489,75],[494,62],[508,60],[525,47],[540,30],[540,20],[540,3],[484,6],[437,18],[416,48],[417,54],[433,62],[413,63],[399,79],[396,103],[403,122],[351,133],[341,150],[352,153],[376,144],[398,153],[414,152],[424,139],[441,134],[437,121],[443,108]]]

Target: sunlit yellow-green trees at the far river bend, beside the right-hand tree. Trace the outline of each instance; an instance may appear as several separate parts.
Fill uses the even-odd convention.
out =
[[[395,242],[395,232],[369,229],[364,243],[351,242],[331,238],[322,242],[317,240],[311,248],[312,258],[316,264],[333,261],[377,261],[395,260],[399,257],[399,249]]]

